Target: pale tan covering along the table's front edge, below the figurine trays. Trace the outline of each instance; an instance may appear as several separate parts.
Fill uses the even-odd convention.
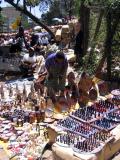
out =
[[[52,151],[55,160],[108,160],[120,150],[120,125],[114,128],[111,133],[115,136],[113,142],[105,144],[103,149],[97,154],[78,154],[71,148],[60,147],[53,144]]]

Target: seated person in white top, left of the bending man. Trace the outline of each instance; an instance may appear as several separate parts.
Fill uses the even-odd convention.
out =
[[[25,76],[29,73],[33,74],[37,66],[37,57],[35,56],[34,48],[30,47],[28,51],[29,53],[24,55],[20,65],[20,70]]]

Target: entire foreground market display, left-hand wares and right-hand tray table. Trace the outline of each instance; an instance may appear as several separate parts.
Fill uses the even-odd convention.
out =
[[[48,142],[57,160],[108,159],[120,149],[119,90],[59,114],[32,81],[1,83],[0,91],[0,153],[8,159],[38,159]]]

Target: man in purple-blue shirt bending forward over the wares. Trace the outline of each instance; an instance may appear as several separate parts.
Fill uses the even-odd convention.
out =
[[[48,94],[52,95],[52,93],[64,91],[68,68],[66,56],[61,51],[53,53],[47,57],[45,66],[48,72],[46,80]]]

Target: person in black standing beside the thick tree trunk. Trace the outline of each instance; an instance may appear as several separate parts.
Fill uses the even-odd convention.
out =
[[[82,64],[82,58],[83,58],[83,31],[81,29],[81,24],[77,22],[75,26],[75,47],[74,47],[74,53],[76,55],[76,62],[80,66]]]

